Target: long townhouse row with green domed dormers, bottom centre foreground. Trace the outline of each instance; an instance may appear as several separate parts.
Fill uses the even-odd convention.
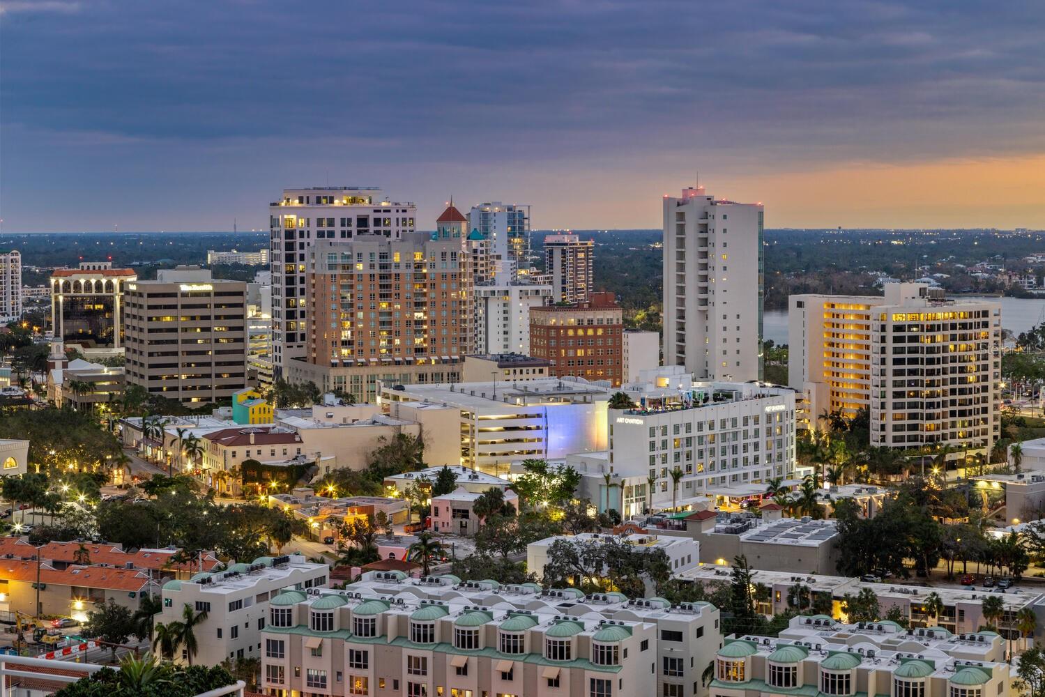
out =
[[[703,696],[721,643],[707,603],[401,572],[282,594],[261,636],[262,688],[278,697]]]

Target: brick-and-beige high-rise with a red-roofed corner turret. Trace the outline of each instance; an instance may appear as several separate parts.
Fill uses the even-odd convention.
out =
[[[451,206],[435,233],[312,242],[307,350],[288,363],[291,378],[366,400],[378,379],[460,380],[472,352],[466,226]]]

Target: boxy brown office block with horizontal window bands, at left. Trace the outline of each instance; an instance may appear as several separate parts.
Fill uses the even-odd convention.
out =
[[[247,385],[247,284],[198,266],[126,285],[126,381],[182,402],[226,401]]]

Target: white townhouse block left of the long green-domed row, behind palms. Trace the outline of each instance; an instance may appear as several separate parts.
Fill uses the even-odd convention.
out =
[[[156,622],[181,621],[186,605],[193,612],[207,612],[195,627],[199,645],[199,652],[192,657],[195,665],[216,666],[226,658],[259,658],[270,598],[277,598],[284,589],[324,587],[329,573],[326,564],[292,554],[258,557],[222,572],[201,572],[187,581],[167,581],[160,590],[163,609]],[[175,660],[188,661],[184,649]]]

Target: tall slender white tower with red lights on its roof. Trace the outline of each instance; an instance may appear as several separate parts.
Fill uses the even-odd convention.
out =
[[[763,216],[762,204],[700,186],[665,195],[665,365],[698,379],[762,377]]]

